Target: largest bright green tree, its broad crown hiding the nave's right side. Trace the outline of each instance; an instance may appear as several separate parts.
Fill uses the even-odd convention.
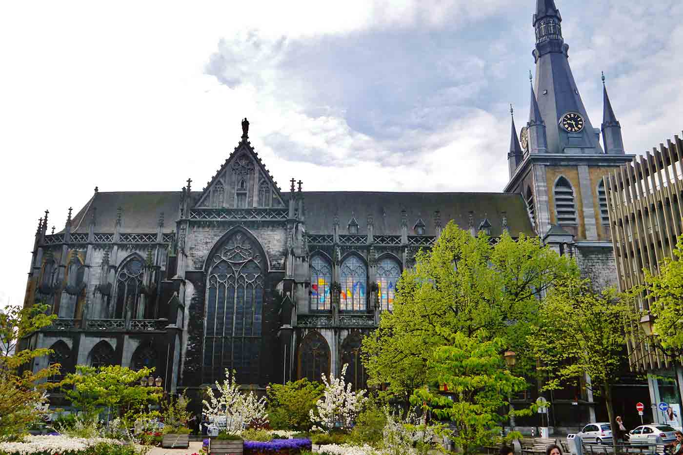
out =
[[[517,372],[531,372],[535,359],[527,335],[540,298],[566,275],[577,275],[566,256],[542,247],[538,238],[507,233],[497,243],[473,237],[449,223],[430,251],[420,251],[415,268],[404,271],[393,312],[363,340],[370,385],[388,384],[407,401],[430,377],[430,360],[451,335],[472,337],[484,329],[518,353]],[[433,375],[432,375],[433,376]]]

